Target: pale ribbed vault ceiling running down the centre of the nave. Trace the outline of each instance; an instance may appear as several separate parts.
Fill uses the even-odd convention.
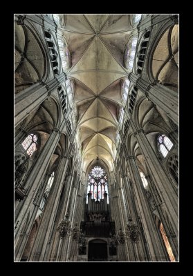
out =
[[[116,156],[121,81],[128,75],[124,57],[133,30],[130,15],[62,14],[60,17],[71,52],[67,75],[75,83],[83,169],[99,159],[111,171]]]

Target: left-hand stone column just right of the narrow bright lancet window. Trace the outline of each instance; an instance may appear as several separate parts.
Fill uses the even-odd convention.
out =
[[[53,188],[51,189],[48,201],[46,202],[46,208],[42,216],[35,244],[33,245],[33,250],[30,253],[31,257],[29,261],[44,262],[48,260],[48,252],[52,242],[53,229],[55,228],[55,217],[57,215],[59,197],[62,193],[67,166],[68,157],[62,157],[58,164]]]

